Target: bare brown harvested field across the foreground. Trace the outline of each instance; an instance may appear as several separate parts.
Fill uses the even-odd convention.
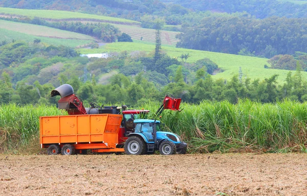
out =
[[[0,195],[307,195],[307,155],[0,155]]]

